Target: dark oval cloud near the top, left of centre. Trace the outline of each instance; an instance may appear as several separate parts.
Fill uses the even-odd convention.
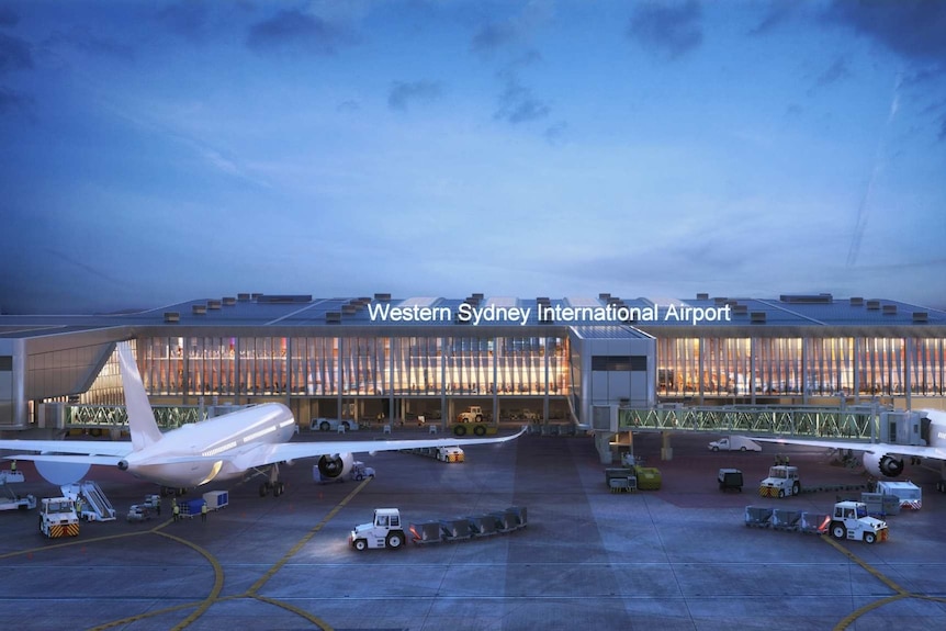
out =
[[[325,20],[290,9],[254,24],[246,43],[257,53],[296,50],[333,55],[346,40],[340,30]]]

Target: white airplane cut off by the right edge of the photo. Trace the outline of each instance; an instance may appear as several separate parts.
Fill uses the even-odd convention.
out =
[[[806,438],[753,437],[759,442],[779,444],[808,444],[827,449],[863,451],[864,469],[874,477],[897,477],[903,473],[905,459],[930,459],[938,461],[941,478],[936,489],[946,492],[946,412],[938,409],[913,410],[915,435],[921,444],[896,442],[852,442],[846,440],[809,440]]]

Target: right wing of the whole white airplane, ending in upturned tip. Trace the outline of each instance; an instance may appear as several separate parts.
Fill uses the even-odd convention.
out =
[[[500,438],[437,438],[420,440],[342,440],[316,442],[282,442],[260,444],[236,458],[232,462],[240,467],[250,469],[275,462],[334,455],[337,453],[373,453],[375,451],[397,451],[399,449],[420,449],[426,447],[464,447],[468,444],[500,443],[519,438],[526,432],[522,428],[518,433]]]

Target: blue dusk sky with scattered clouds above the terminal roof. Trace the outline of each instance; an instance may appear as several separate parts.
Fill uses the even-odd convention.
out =
[[[946,307],[946,1],[0,0],[0,312]]]

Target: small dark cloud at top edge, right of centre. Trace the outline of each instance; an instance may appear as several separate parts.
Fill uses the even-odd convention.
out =
[[[634,11],[628,36],[655,54],[676,59],[702,43],[702,11],[696,0],[677,7],[652,2]]]

